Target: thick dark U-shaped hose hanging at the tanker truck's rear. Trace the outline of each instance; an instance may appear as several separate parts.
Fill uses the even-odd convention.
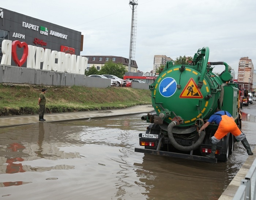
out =
[[[196,141],[195,144],[192,144],[191,146],[179,145],[176,142],[176,140],[174,139],[173,132],[172,132],[172,129],[173,129],[173,127],[176,124],[177,124],[176,122],[171,122],[171,123],[169,123],[168,128],[167,128],[167,132],[168,132],[168,137],[169,137],[170,143],[174,146],[174,148],[176,148],[178,150],[181,150],[181,151],[184,151],[184,152],[188,152],[188,151],[197,149],[202,144],[202,142],[204,140],[204,137],[205,137],[205,132],[204,131],[201,131],[199,139]]]

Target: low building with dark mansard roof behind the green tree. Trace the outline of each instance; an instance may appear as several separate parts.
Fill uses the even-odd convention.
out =
[[[95,68],[99,71],[104,64],[110,60],[113,63],[122,63],[123,66],[128,70],[129,59],[120,57],[120,56],[98,56],[98,55],[83,55],[83,57],[87,57],[88,59],[88,67],[89,70],[91,67],[95,66]],[[135,60],[131,61],[131,72],[137,72],[138,66]]]

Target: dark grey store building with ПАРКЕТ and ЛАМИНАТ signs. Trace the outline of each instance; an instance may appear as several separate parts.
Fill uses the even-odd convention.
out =
[[[3,40],[19,40],[27,45],[74,55],[80,55],[83,50],[81,32],[0,8],[0,62]],[[16,48],[18,58],[22,58],[23,51],[23,47]],[[17,66],[14,60],[11,65]],[[26,62],[22,67],[26,67]]]

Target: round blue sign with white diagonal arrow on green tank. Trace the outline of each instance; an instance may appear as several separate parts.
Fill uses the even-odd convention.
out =
[[[159,92],[163,97],[171,97],[177,89],[177,83],[172,77],[164,78],[159,84]]]

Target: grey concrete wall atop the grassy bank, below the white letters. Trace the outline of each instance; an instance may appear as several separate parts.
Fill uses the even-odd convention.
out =
[[[72,74],[34,68],[0,65],[0,83],[16,83],[49,86],[85,86],[105,88],[111,86],[111,80],[88,77],[82,74]],[[148,83],[132,83],[132,88],[148,89]]]

